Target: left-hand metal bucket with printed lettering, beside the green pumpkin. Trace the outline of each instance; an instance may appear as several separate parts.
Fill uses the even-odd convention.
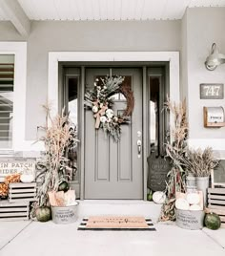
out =
[[[51,206],[54,224],[72,224],[77,220],[78,203],[70,206]]]

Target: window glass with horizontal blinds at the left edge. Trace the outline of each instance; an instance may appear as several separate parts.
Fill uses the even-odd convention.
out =
[[[0,148],[12,147],[14,55],[0,55]]]

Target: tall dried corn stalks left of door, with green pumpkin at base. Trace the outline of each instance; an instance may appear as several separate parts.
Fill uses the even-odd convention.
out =
[[[69,160],[67,152],[77,142],[76,129],[72,125],[69,115],[62,111],[54,118],[50,116],[50,108],[46,109],[46,126],[39,127],[44,135],[39,139],[43,141],[45,152],[38,161],[39,174],[36,181],[40,182],[37,192],[37,201],[32,204],[31,216],[45,222],[51,218],[50,192],[61,190],[62,183],[68,183],[67,170]],[[50,124],[49,124],[50,122]]]

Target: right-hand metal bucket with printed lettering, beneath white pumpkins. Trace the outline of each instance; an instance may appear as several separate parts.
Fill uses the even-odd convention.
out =
[[[202,229],[204,224],[204,211],[175,210],[175,223],[185,229]]]

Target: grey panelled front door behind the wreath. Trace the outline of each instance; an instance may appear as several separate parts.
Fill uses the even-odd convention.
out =
[[[142,140],[142,71],[140,69],[86,69],[86,89],[96,77],[122,75],[131,84],[134,109],[131,124],[121,125],[121,139],[106,138],[95,130],[91,110],[85,111],[85,199],[143,199],[142,155],[137,140]],[[126,109],[126,99],[116,95],[114,111]],[[141,149],[142,150],[142,149]]]

